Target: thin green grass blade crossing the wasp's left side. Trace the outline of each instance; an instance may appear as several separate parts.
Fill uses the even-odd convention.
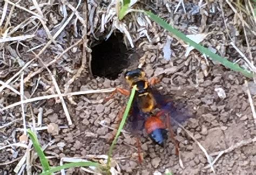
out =
[[[135,95],[135,92],[136,92],[136,85],[133,86],[132,88],[132,91],[131,91],[131,95],[130,95],[130,99],[127,103],[127,106],[125,108],[125,111],[124,111],[124,115],[123,115],[123,118],[122,118],[122,121],[120,122],[120,125],[119,125],[119,128],[117,130],[117,134],[116,136],[114,137],[114,140],[110,146],[110,149],[109,149],[109,153],[107,154],[107,167],[108,169],[110,170],[110,157],[112,156],[112,152],[113,152],[113,148],[114,148],[114,145],[117,143],[117,138],[118,136],[120,135],[121,133],[121,130],[124,128],[124,124],[125,124],[125,121],[126,121],[126,118],[127,116],[129,115],[129,111],[131,109],[131,106],[132,106],[132,101],[133,101],[133,98],[134,98],[134,95]]]

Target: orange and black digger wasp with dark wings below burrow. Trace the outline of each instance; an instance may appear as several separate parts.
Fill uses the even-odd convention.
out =
[[[125,73],[125,79],[131,89],[136,85],[136,94],[133,99],[129,116],[129,120],[132,122],[132,131],[134,134],[137,135],[138,131],[144,127],[153,142],[160,146],[164,146],[168,129],[176,147],[176,155],[178,155],[179,145],[174,137],[174,132],[171,127],[171,117],[180,122],[184,121],[187,116],[179,115],[174,104],[153,88],[152,85],[158,83],[158,80],[153,78],[148,81],[146,74],[142,69],[137,68],[127,71]],[[124,95],[130,94],[130,90],[116,88],[109,97],[106,97],[105,101],[111,99],[117,92]],[[119,113],[119,118],[122,116],[123,111],[122,113]],[[137,141],[139,145],[139,140],[137,139]],[[138,151],[140,152],[139,146]],[[139,162],[141,161],[142,158],[139,157]]]

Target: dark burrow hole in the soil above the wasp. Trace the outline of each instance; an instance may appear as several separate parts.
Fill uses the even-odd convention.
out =
[[[92,47],[91,69],[93,76],[115,80],[129,66],[129,54],[123,43],[123,34],[112,33],[107,40]]]

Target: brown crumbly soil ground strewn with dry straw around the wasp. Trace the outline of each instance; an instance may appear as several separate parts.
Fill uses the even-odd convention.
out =
[[[256,63],[255,21],[245,9],[238,8],[235,3],[226,3],[228,1],[223,4],[202,1],[201,5],[206,3],[203,6],[197,1],[184,1],[184,12],[183,5],[178,5],[178,2],[141,1],[134,8],[151,10],[185,34],[207,33],[202,45],[248,68],[231,45],[232,41],[251,59],[252,64]],[[91,2],[89,6],[64,1],[38,1],[38,6],[35,2],[21,1],[14,9],[11,9],[10,2],[0,4],[1,16],[6,14],[0,23],[3,24],[2,27],[0,25],[1,37],[5,38],[6,33],[11,38],[32,35],[25,40],[5,41],[0,45],[0,82],[1,85],[4,82],[10,85],[1,87],[1,109],[21,101],[20,92],[24,93],[24,99],[31,99],[57,94],[56,86],[61,93],[129,88],[123,73],[140,63],[149,79],[157,76],[161,80],[156,85],[159,92],[181,104],[191,115],[181,123],[186,130],[177,125],[173,127],[184,168],[180,166],[170,138],[166,148],[161,148],[151,141],[145,131],[140,138],[144,160],[138,164],[137,147],[134,146],[136,139],[127,123],[113,151],[113,158],[122,174],[157,174],[164,173],[166,169],[173,174],[213,174],[211,168],[206,167],[209,163],[198,143],[213,159],[219,151],[224,151],[213,165],[217,174],[253,174],[256,171],[255,111],[250,106],[250,99],[255,106],[256,90],[252,79],[203,57],[196,50],[186,57],[187,46],[172,35],[172,54],[170,60],[166,60],[163,50],[170,33],[154,22],[150,25],[149,19],[141,13],[130,13],[120,23],[113,17],[103,25],[104,30],[101,31],[102,15],[111,16],[110,11],[115,9],[109,1]],[[247,1],[241,5],[250,9]],[[78,12],[69,19],[76,6]],[[237,9],[236,13],[234,8]],[[137,19],[140,19],[140,23]],[[42,25],[44,22],[45,26]],[[65,22],[67,25],[61,29],[60,26],[64,26]],[[7,27],[4,27],[5,24]],[[122,24],[127,25],[133,48],[127,33],[124,36],[116,29],[120,29]],[[112,40],[105,45],[100,44],[104,43],[111,29],[114,29]],[[142,30],[138,29],[144,29],[149,38],[139,34]],[[56,38],[57,31],[60,34]],[[46,44],[51,37],[55,41]],[[74,46],[69,48],[71,45]],[[68,51],[65,51],[67,48]],[[35,60],[26,65],[32,59]],[[55,62],[48,66],[48,71],[44,64],[52,60]],[[24,141],[24,137],[21,137],[24,116],[26,128],[38,129],[37,137],[45,147],[50,165],[59,165],[60,159],[64,157],[91,160],[91,157],[106,155],[113,129],[117,128],[118,113],[128,100],[128,97],[117,94],[103,103],[102,99],[107,95],[109,93],[65,96],[68,112],[65,112],[59,98],[39,99],[24,103],[24,109],[19,104],[1,111],[0,174],[15,174],[15,167],[26,153],[24,145],[18,144]],[[70,114],[71,125],[68,125],[66,113]],[[38,121],[41,115],[42,123]],[[29,142],[26,145],[31,146]],[[30,150],[30,153],[31,158],[21,165],[19,171],[25,174],[41,172],[39,160],[32,154],[34,151]],[[28,163],[31,167],[27,170],[25,165]],[[69,169],[68,173],[86,174],[79,168]]]

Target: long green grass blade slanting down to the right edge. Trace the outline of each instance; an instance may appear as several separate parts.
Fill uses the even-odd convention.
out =
[[[199,52],[208,55],[214,61],[220,62],[221,64],[223,64],[224,66],[232,69],[233,71],[241,72],[242,74],[244,74],[248,78],[253,78],[253,74],[251,72],[248,72],[245,69],[242,69],[238,64],[234,64],[233,62],[228,61],[227,59],[225,59],[223,57],[220,57],[218,54],[215,54],[215,53],[211,52],[210,50],[208,50],[208,48],[195,43],[193,40],[187,38],[185,34],[181,33],[177,29],[174,29],[171,25],[166,23],[163,19],[161,19],[157,15],[154,15],[152,12],[144,11],[144,13],[146,13],[146,15],[148,15],[152,20],[154,20],[154,22],[159,24],[165,30],[167,30],[167,31],[171,32],[172,34],[176,35],[178,38],[182,39],[187,44],[189,44],[192,47],[196,48]]]

